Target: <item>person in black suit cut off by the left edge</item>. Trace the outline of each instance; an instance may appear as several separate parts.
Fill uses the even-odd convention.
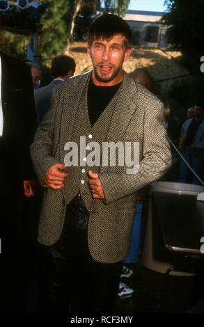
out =
[[[35,173],[29,145],[36,111],[29,66],[0,53],[0,312],[24,312],[24,280],[30,247],[29,199]]]

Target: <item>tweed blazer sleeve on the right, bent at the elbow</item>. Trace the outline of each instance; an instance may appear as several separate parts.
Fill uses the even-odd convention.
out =
[[[142,159],[139,163],[138,173],[100,173],[106,204],[135,193],[151,182],[158,180],[170,168],[172,157],[163,113],[164,109],[161,102],[155,102],[151,110],[150,107],[146,109]]]

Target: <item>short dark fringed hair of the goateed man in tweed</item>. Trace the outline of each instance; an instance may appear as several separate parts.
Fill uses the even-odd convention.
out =
[[[88,45],[91,47],[94,40],[102,38],[109,40],[115,34],[123,34],[125,37],[125,49],[130,49],[132,45],[132,32],[130,26],[123,20],[113,14],[104,14],[91,24],[88,31]]]

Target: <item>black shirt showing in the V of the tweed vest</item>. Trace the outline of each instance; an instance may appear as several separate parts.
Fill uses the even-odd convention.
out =
[[[97,86],[93,83],[93,79],[90,79],[88,85],[88,117],[92,127],[113,99],[121,83],[113,86]]]

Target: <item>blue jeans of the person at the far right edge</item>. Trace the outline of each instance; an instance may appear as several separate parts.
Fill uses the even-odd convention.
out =
[[[195,173],[198,175],[198,177],[201,176],[201,158],[198,158],[196,156],[192,156],[189,151],[187,150],[188,147],[185,147],[185,151],[182,153],[182,156],[186,159],[187,163],[189,163],[189,166],[195,171]],[[179,168],[179,175],[178,175],[178,182],[180,183],[186,183],[187,177],[189,173],[189,167],[185,163],[185,161],[180,158],[180,168]],[[197,184],[200,185],[201,182],[198,180],[198,178],[192,173],[192,182],[191,184]]]

